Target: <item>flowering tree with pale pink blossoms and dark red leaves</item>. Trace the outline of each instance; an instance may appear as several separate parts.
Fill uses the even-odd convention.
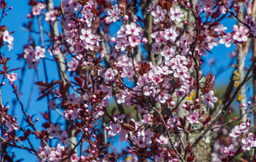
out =
[[[9,68],[2,48],[12,52],[15,31],[0,26],[0,88],[12,89],[22,112],[14,117],[13,107],[1,98],[12,92],[0,91],[2,161],[16,160],[9,148],[24,149],[39,161],[256,161],[255,1],[61,0],[54,5],[30,0],[27,5],[24,26],[40,41],[30,35],[20,47],[17,60],[24,67]],[[9,19],[12,7],[1,0],[1,9],[0,22]],[[237,24],[228,29],[227,19]],[[202,72],[202,55],[219,44],[236,47],[224,95],[213,86],[225,69]],[[55,62],[58,72],[46,61]],[[34,83],[38,101],[47,101],[47,112],[38,109],[42,125],[20,99],[26,68],[44,72],[44,80]],[[50,80],[49,74],[59,79]],[[246,95],[251,80],[253,95]]]

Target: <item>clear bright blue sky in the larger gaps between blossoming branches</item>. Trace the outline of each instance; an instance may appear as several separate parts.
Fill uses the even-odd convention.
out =
[[[31,7],[27,5],[28,1],[20,1],[20,0],[6,0],[6,3],[9,3],[9,6],[12,6],[13,9],[9,10],[9,15],[4,17],[1,23],[2,25],[7,26],[9,32],[15,32],[13,34],[15,40],[15,45],[14,49],[9,51],[7,47],[3,47],[2,52],[6,57],[11,58],[11,60],[8,62],[9,68],[16,68],[16,67],[23,67],[24,61],[17,61],[17,54],[21,54],[23,52],[23,45],[27,43],[28,40],[28,32],[22,30],[20,27],[22,27],[22,23],[27,22],[26,20],[26,14],[30,12]],[[58,1],[54,1],[55,4],[59,3]],[[224,26],[228,27],[228,32],[232,31],[232,26],[236,23],[235,20],[233,19],[227,19],[224,22]],[[38,22],[36,19],[34,20],[34,29],[38,31]],[[46,24],[44,24],[46,25]],[[39,45],[39,38],[38,35],[33,34],[32,37],[34,38],[36,45]],[[225,48],[224,45],[220,44],[218,47],[214,47],[212,49],[212,54],[208,54],[207,56],[202,56],[204,60],[209,61],[212,58],[216,59],[216,66],[221,67],[221,66],[226,66],[230,62],[230,57],[228,57],[228,53],[232,52],[235,49],[235,45],[232,45],[229,49]],[[251,53],[247,55],[247,65],[249,63],[249,59],[251,58]],[[49,57],[49,54],[47,54],[47,57]],[[44,71],[43,71],[43,61],[40,61],[40,65],[38,66],[38,78],[35,78],[35,81],[38,80],[44,80]],[[49,74],[49,81],[58,79],[58,73],[56,70],[56,65],[55,62],[51,61],[46,61],[47,64],[47,71]],[[216,70],[216,68],[214,68]],[[215,72],[213,71],[213,73]],[[230,75],[233,69],[230,69],[224,73],[222,73],[217,79],[216,79],[216,86],[219,85],[224,85],[227,84],[230,80]],[[207,74],[207,72],[211,72],[211,67],[208,64],[203,65],[203,72]],[[20,70],[17,71],[18,73],[18,78],[20,78],[21,73]],[[21,89],[21,95],[20,99],[23,101],[24,106],[26,107],[28,104],[29,100],[29,94],[31,91],[31,87],[33,84],[33,75],[34,71],[33,70],[28,70],[26,68],[26,73],[24,75],[24,80],[23,80],[23,85]],[[13,109],[13,104],[12,100],[15,98],[15,95],[12,93],[11,87],[8,84],[8,80],[5,80],[6,85],[3,86],[2,88],[2,96],[3,96],[3,104],[6,104],[9,102],[10,106],[10,111]],[[15,84],[18,84],[16,81]],[[20,85],[19,85],[20,86]],[[18,86],[18,87],[19,87]],[[39,119],[38,123],[36,124],[38,128],[42,128],[41,125],[44,123],[43,117],[40,115],[40,112],[44,112],[47,109],[47,103],[46,100],[41,100],[37,101],[38,98],[38,88],[35,85],[33,90],[32,90],[32,101],[30,102],[30,108],[28,109],[28,114],[36,114],[36,118]],[[15,116],[18,116],[18,123],[20,124],[21,122],[21,117],[19,114],[21,113],[20,111],[20,106],[18,103],[16,104],[15,107]],[[55,116],[58,116],[58,113],[52,113]],[[55,123],[55,122],[54,122]],[[25,125],[24,125],[25,126]],[[62,127],[63,128],[63,127]],[[33,137],[33,136],[32,136]],[[38,143],[37,140],[32,139],[32,142]],[[55,144],[55,142],[53,142]],[[31,153],[28,153],[25,150],[17,150],[13,149],[13,152],[15,152],[16,158],[24,158],[33,160],[35,159],[34,156],[31,155]],[[34,161],[34,160],[33,160]]]

